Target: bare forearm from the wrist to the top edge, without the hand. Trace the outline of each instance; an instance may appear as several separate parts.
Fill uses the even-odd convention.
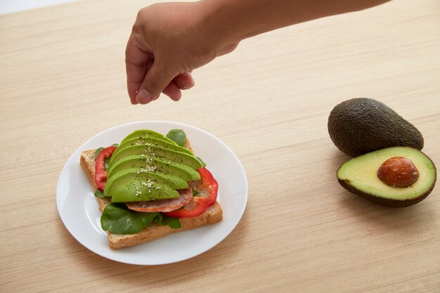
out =
[[[325,16],[360,11],[389,0],[201,0],[207,27],[238,42]]]

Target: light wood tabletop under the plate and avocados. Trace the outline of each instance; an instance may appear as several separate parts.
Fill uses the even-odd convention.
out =
[[[149,1],[84,0],[0,16],[0,292],[439,292],[440,187],[420,204],[351,195],[330,141],[337,103],[377,98],[440,166],[440,5],[396,0],[242,41],[179,103],[132,106],[124,48]],[[208,252],[131,266],[90,252],[56,208],[72,152],[118,124],[209,131],[249,182],[242,221]],[[81,196],[81,195],[78,195]]]

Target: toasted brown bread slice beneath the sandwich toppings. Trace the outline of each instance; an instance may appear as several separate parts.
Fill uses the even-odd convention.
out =
[[[189,144],[188,139],[186,140],[185,148],[188,150],[192,150]],[[86,173],[87,178],[89,178],[89,182],[91,187],[93,188],[93,192],[96,191],[97,186],[94,180],[95,177],[95,151],[96,150],[84,150],[81,153],[81,157],[79,160],[79,164],[82,169]],[[107,204],[110,203],[108,198],[99,198],[96,197],[96,200],[99,204],[99,210],[102,212]],[[134,245],[138,245],[144,242],[148,242],[151,240],[156,240],[167,236],[172,233],[178,233],[186,230],[191,230],[194,228],[199,228],[202,226],[212,225],[214,223],[218,223],[223,219],[223,211],[218,202],[212,204],[211,207],[207,208],[206,211],[203,212],[200,216],[196,216],[194,218],[181,218],[182,228],[173,229],[169,226],[160,226],[160,225],[150,225],[147,228],[143,229],[140,233],[137,234],[128,234],[128,235],[117,235],[113,233],[108,233],[108,245],[112,249],[121,249],[124,247],[130,247]]]

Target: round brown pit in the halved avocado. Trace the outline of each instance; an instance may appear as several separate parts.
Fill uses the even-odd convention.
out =
[[[418,181],[419,171],[410,159],[392,157],[380,165],[377,177],[389,186],[407,188]]]

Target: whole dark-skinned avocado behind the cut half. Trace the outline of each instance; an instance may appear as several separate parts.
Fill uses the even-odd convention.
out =
[[[372,98],[336,105],[328,117],[328,133],[336,147],[351,157],[393,146],[423,148],[422,134],[413,124]]]

